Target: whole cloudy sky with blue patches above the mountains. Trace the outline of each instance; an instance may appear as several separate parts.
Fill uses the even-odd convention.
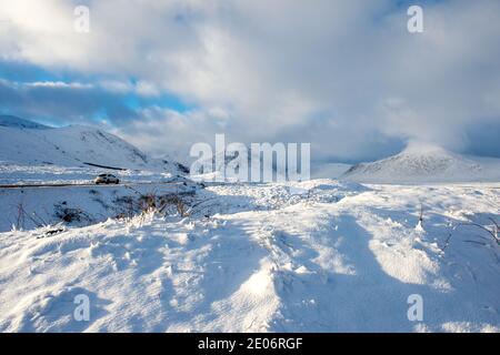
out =
[[[74,31],[74,8],[90,32]],[[423,33],[409,33],[410,4]],[[354,162],[408,141],[500,156],[498,0],[0,0],[0,113],[153,154],[310,142]]]

